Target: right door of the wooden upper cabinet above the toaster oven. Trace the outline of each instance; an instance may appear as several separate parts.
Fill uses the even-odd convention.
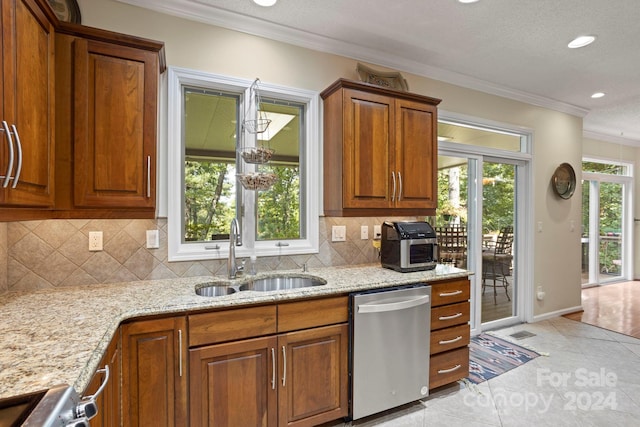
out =
[[[437,207],[436,107],[398,99],[395,103],[395,173],[398,208]]]

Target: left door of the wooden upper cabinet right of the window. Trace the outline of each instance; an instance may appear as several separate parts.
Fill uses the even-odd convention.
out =
[[[343,99],[343,206],[389,207],[394,180],[389,168],[394,155],[389,149],[393,99],[357,90],[345,90]]]

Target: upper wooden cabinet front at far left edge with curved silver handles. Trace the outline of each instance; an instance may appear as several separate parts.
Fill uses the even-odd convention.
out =
[[[51,207],[54,181],[54,33],[34,0],[2,3],[2,104],[0,175],[15,177],[0,187],[4,205]],[[17,135],[13,133],[15,126]],[[9,167],[9,136],[13,167]],[[18,147],[18,144],[20,147]],[[22,154],[19,154],[19,150]],[[0,184],[4,179],[0,180]],[[15,185],[15,187],[14,187]]]

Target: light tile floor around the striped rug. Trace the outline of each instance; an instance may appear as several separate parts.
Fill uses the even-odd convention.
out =
[[[554,318],[495,331],[548,356],[479,385],[455,384],[380,415],[325,427],[636,426],[640,339]],[[511,338],[512,339],[512,338]]]

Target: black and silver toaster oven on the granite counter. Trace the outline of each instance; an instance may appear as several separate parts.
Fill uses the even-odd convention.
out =
[[[438,260],[438,239],[427,222],[382,224],[382,266],[400,272],[432,270]]]

